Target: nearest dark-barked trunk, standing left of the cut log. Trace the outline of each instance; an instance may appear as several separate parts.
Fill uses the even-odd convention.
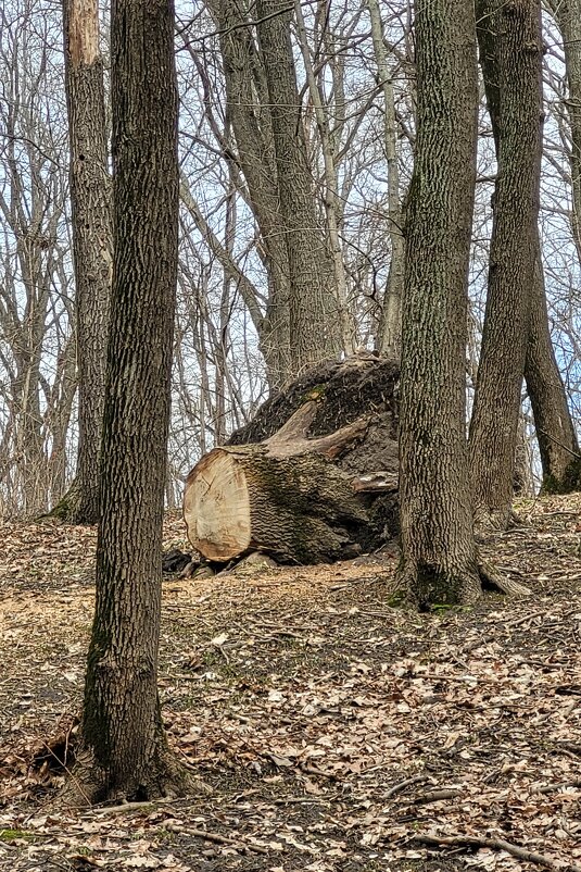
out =
[[[156,687],[178,226],[172,2],[113,3],[112,102],[115,253],[81,722],[96,800],[159,796],[177,778]]]

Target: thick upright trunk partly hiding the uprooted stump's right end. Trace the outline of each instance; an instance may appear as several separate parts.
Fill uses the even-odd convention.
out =
[[[464,0],[416,3],[417,141],[407,223],[400,578],[419,608],[480,595],[466,440],[477,52]]]

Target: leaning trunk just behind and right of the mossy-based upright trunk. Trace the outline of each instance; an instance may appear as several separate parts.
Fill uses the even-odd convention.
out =
[[[504,528],[510,518],[536,253],[541,3],[478,0],[476,12],[487,100],[497,119],[497,175],[470,456],[477,523]]]

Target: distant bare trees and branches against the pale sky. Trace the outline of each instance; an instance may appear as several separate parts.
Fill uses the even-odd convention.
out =
[[[563,12],[567,8],[569,18]],[[402,269],[397,259],[403,257],[415,146],[413,11],[402,2],[378,7],[334,0],[298,9],[301,18],[293,16],[289,27],[300,111],[288,121],[302,128],[312,197],[306,210],[330,251],[327,287],[329,292],[336,288],[330,310],[332,327],[341,335],[328,336],[328,347],[333,356],[386,350],[394,341],[386,326],[387,288],[391,281],[399,292],[394,273]],[[551,338],[578,426],[581,48],[573,9],[574,3],[559,0],[543,9],[539,231]],[[0,14],[0,512],[30,516],[52,508],[67,491],[78,446],[65,67],[59,4],[4,0]],[[254,32],[239,27],[245,14],[235,3],[177,7],[180,215],[168,507],[180,503],[185,477],[197,460],[245,424],[269,389],[296,374],[277,302],[289,276],[283,226],[273,214],[280,196],[273,166],[273,112],[261,96],[266,85]],[[101,17],[106,142],[106,8]],[[227,33],[229,27],[239,29]],[[496,178],[482,85],[480,103],[469,408]],[[324,334],[315,345],[315,356],[325,357]],[[308,360],[311,351],[305,353]],[[520,434],[525,484],[538,489],[542,470],[526,387]]]

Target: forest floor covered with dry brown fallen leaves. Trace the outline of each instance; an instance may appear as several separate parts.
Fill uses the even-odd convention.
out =
[[[581,496],[517,508],[482,550],[523,600],[404,611],[395,552],[166,578],[164,720],[213,792],[80,810],[48,760],[79,711],[96,532],[0,524],[0,869],[580,870]],[[184,535],[168,519],[166,548]]]

